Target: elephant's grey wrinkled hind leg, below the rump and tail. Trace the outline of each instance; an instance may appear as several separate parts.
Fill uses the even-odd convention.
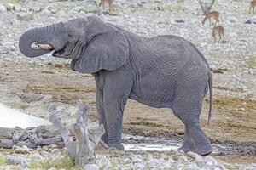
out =
[[[201,129],[199,117],[201,114],[202,100],[206,88],[197,87],[195,84],[185,85],[177,90],[177,96],[173,102],[174,114],[185,125],[183,145],[179,150],[193,151],[201,156],[212,152],[212,145],[206,133]]]

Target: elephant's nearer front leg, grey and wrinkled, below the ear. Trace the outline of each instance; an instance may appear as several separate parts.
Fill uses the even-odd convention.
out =
[[[132,88],[132,76],[125,68],[105,71],[103,77],[103,106],[107,121],[108,146],[124,150],[121,144],[123,112]]]

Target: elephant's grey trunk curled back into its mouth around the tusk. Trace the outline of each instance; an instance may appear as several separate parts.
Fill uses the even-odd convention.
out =
[[[49,52],[51,52],[53,49],[32,48],[33,42],[46,43],[45,40],[48,39],[48,37],[45,37],[45,35],[48,35],[47,33],[49,33],[50,30],[53,30],[52,26],[34,28],[32,30],[26,31],[20,37],[20,52],[26,55],[27,57],[38,57],[40,55],[48,54]]]

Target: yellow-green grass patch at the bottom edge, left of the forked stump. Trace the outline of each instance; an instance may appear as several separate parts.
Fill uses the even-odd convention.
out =
[[[31,161],[30,169],[49,169],[55,167],[56,169],[82,170],[82,168],[74,165],[71,157],[65,152],[64,157],[59,160],[47,159],[44,161]]]

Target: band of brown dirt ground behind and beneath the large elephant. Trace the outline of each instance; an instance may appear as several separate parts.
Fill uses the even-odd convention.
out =
[[[78,99],[82,99],[92,111],[90,118],[96,121],[94,77],[71,71],[69,65],[65,64],[5,63],[1,64],[0,68],[0,102],[26,111],[33,103],[41,100],[27,97],[32,94],[50,95],[47,104],[74,105]],[[9,99],[3,97],[4,93]],[[12,103],[11,99],[15,97],[21,99],[20,103]],[[40,103],[40,107],[46,108],[47,104]],[[208,106],[206,97],[201,112],[201,126],[213,143],[250,144],[252,148],[256,148],[255,100],[213,95],[210,125],[207,124]],[[41,116],[46,117],[47,112]],[[133,135],[182,139],[183,123],[169,109],[154,109],[130,99],[125,106],[123,131]],[[217,158],[228,162],[256,162],[255,150],[248,155],[218,155]]]

